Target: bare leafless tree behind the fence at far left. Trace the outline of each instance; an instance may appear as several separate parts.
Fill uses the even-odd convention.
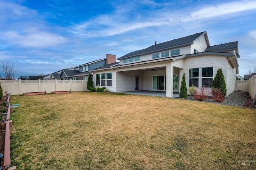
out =
[[[0,79],[2,80],[14,80],[16,79],[16,70],[12,61],[2,61],[2,73],[0,73]]]

